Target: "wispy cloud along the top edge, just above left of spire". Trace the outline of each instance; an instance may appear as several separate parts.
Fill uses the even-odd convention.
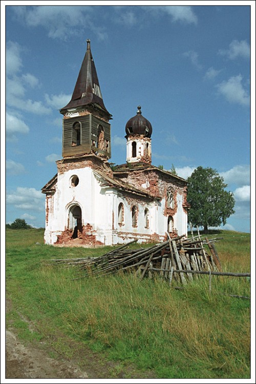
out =
[[[17,20],[31,28],[42,27],[53,39],[67,40],[84,34],[90,28],[100,40],[107,35],[98,21],[93,21],[94,7],[90,6],[23,6],[12,7]]]

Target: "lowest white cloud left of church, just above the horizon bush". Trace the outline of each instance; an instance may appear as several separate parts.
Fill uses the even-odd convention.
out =
[[[35,211],[44,211],[44,195],[35,188],[17,187],[16,191],[7,193],[6,204],[13,205],[20,209],[33,209]]]

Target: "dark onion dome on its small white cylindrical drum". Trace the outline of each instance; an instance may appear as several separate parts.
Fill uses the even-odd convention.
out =
[[[151,164],[152,125],[142,116],[140,105],[137,115],[127,121],[125,132],[127,163],[144,162]]]

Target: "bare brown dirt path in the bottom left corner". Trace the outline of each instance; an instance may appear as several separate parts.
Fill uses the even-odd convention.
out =
[[[12,309],[12,303],[6,299],[6,312]],[[36,331],[32,322],[17,312],[22,321],[26,322],[30,332]],[[9,378],[107,378],[111,377],[115,364],[104,361],[96,353],[79,343],[71,343],[75,348],[73,359],[63,358],[56,353],[46,340],[35,343],[26,343],[19,340],[12,321],[8,322],[6,330],[6,379]],[[61,337],[61,336],[60,336]],[[3,341],[3,340],[2,340]],[[68,340],[67,340],[67,343]],[[56,358],[51,358],[56,355]],[[115,377],[122,377],[122,372]]]

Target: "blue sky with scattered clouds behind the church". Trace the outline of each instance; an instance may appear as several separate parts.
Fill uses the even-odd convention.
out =
[[[71,98],[90,38],[104,104],[113,115],[110,161],[125,162],[125,124],[140,104],[153,126],[153,164],[174,165],[184,178],[200,165],[216,169],[236,199],[236,214],[225,228],[250,231],[254,2],[12,3],[1,2],[2,28],[6,16],[7,223],[24,218],[44,227],[41,188],[61,159],[59,109]]]

